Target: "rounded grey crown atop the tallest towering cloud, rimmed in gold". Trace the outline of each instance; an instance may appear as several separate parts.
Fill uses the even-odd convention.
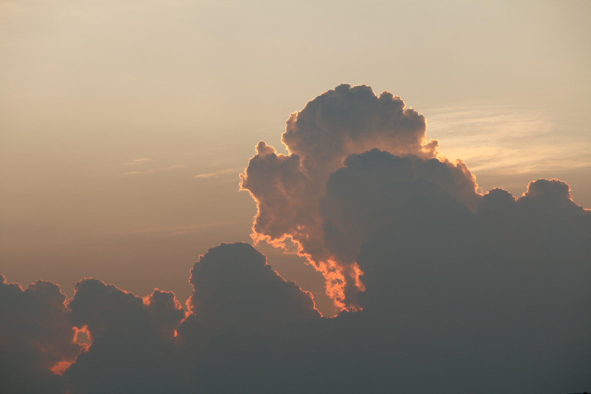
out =
[[[426,141],[426,129],[424,116],[400,97],[343,83],[292,113],[281,141],[312,171],[372,148],[434,157],[437,141]]]

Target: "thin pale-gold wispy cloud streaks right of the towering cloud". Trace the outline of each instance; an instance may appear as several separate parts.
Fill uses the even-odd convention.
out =
[[[462,158],[479,175],[591,166],[591,144],[557,135],[559,126],[543,109],[466,105],[425,112],[429,136],[443,141],[439,152]]]

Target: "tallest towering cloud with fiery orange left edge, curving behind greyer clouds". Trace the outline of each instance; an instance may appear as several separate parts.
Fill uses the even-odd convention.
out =
[[[457,178],[458,190],[453,195],[470,209],[478,204],[475,177],[461,161],[452,163],[437,155],[437,141],[427,141],[426,125],[424,116],[406,108],[400,97],[389,92],[377,97],[365,85],[342,84],[292,113],[281,137],[289,154],[277,154],[261,141],[241,175],[241,187],[251,193],[258,209],[252,226],[255,243],[267,240],[282,247],[285,240],[293,240],[300,254],[324,274],[327,293],[335,304],[357,310],[355,294],[362,284],[354,261],[356,252],[349,248],[353,255],[343,260],[343,253],[327,247],[320,210],[329,175],[350,154],[379,148],[433,159],[430,165],[439,162],[439,171]]]

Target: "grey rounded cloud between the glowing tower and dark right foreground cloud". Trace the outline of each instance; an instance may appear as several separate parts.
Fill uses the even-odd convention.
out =
[[[326,195],[320,201],[324,248],[341,265],[355,266],[366,238],[391,223],[413,222],[425,216],[432,220],[444,217],[453,223],[457,217],[469,215],[467,207],[476,206],[482,197],[475,193],[475,184],[465,171],[436,158],[398,157],[379,149],[349,155],[345,166],[330,174]],[[391,189],[397,193],[390,193]],[[420,199],[431,194],[453,201],[457,212],[452,211],[452,215],[447,208],[439,211],[439,200],[428,200],[430,210],[417,209]],[[400,209],[408,201],[413,204]],[[355,299],[362,288],[362,282],[353,282],[343,294],[332,296]]]

